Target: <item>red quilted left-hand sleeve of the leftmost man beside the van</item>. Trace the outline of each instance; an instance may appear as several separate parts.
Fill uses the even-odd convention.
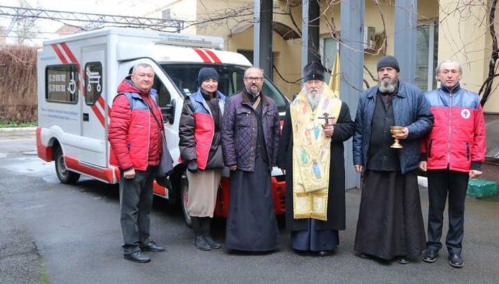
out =
[[[112,104],[111,120],[107,139],[118,161],[120,169],[132,169],[133,164],[128,152],[128,129],[132,120],[130,102],[125,95],[118,95]]]

